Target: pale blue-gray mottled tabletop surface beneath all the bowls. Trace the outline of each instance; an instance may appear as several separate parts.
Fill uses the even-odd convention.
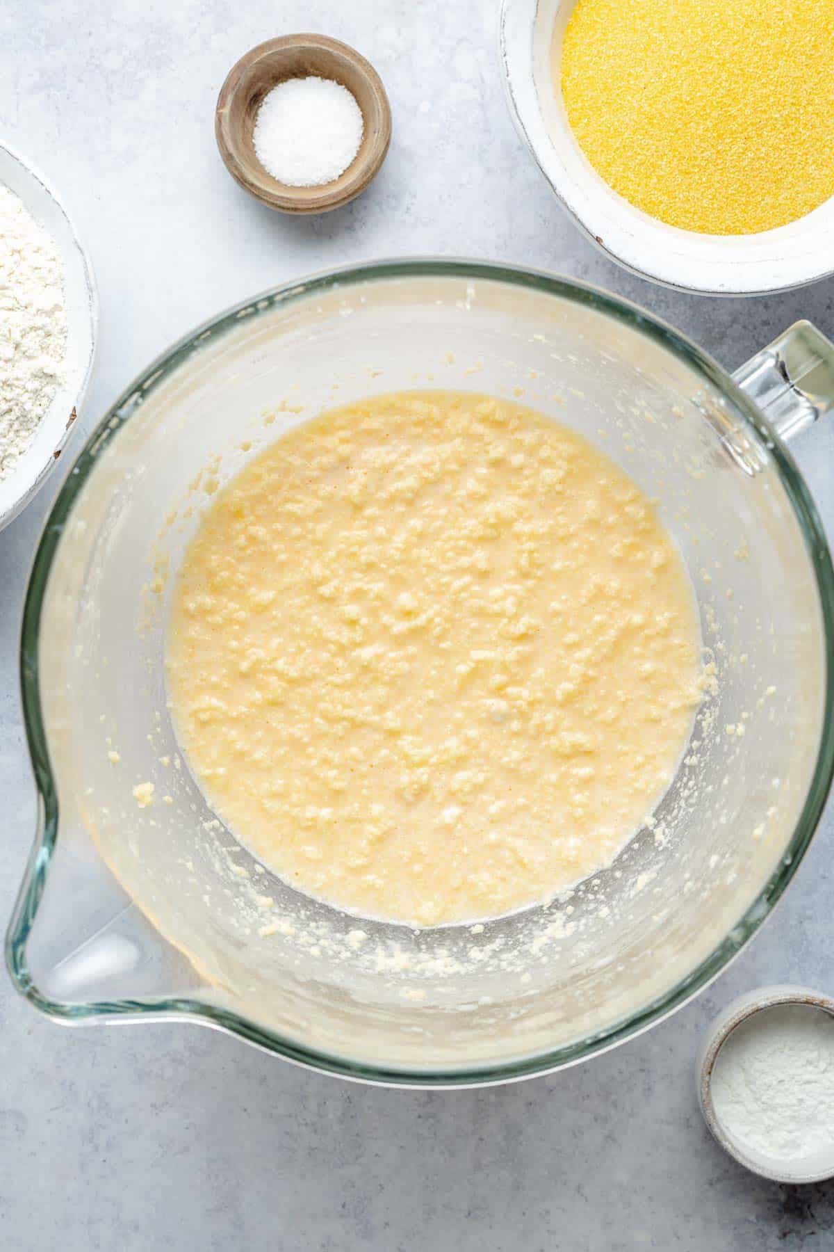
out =
[[[800,316],[834,334],[834,284],[749,302],[659,290],[561,217],[498,76],[493,0],[6,0],[0,138],[43,167],[101,293],[89,428],[174,337],[334,264],[464,253],[549,267],[645,303],[735,367]],[[249,200],[214,146],[233,61],[315,29],[379,68],[394,141],[371,190],[321,219]],[[78,446],[78,444],[76,444]],[[834,523],[831,431],[798,449]],[[54,486],[0,535],[0,916],[34,828],[16,647]],[[503,1252],[834,1247],[834,1184],[755,1179],[713,1144],[693,1059],[756,983],[834,990],[831,810],[775,918],[695,1004],[585,1067],[508,1088],[351,1087],[196,1027],[68,1030],[0,978],[0,1246],[18,1249]]]

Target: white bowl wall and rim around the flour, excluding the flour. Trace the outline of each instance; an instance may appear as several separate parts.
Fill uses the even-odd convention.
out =
[[[55,240],[64,263],[66,352],[64,379],[31,443],[6,478],[0,481],[0,530],[46,482],[75,431],[81,401],[93,372],[99,326],[93,265],[58,194],[29,162],[0,144],[0,185],[8,187]]]

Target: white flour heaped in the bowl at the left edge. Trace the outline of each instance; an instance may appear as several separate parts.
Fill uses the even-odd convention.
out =
[[[63,381],[64,267],[55,240],[0,187],[0,481]]]

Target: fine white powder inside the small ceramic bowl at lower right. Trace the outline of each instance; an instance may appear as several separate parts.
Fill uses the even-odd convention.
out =
[[[834,1147],[834,1018],[810,1004],[754,1013],[716,1057],[713,1106],[728,1134],[769,1157]]]

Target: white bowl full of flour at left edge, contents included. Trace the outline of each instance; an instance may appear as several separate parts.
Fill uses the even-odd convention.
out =
[[[0,144],[0,530],[58,464],[96,329],[93,269],[66,209]]]

